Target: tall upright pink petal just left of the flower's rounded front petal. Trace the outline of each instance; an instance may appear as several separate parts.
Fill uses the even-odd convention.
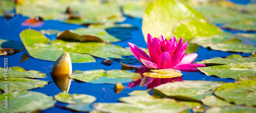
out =
[[[157,63],[158,57],[161,54],[161,44],[158,38],[154,38],[152,42],[152,61]]]

